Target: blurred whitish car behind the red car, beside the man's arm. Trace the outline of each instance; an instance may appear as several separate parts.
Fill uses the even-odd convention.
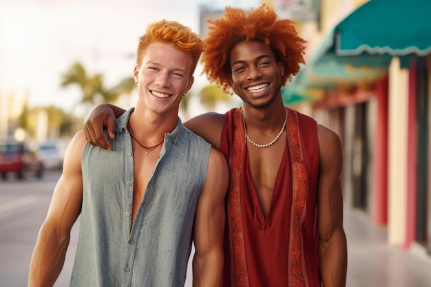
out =
[[[65,147],[62,142],[43,142],[37,149],[37,155],[43,162],[45,169],[62,169]]]

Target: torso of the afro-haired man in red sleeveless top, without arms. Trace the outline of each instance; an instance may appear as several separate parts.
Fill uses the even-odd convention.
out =
[[[302,146],[299,149],[300,161],[304,160],[307,175],[306,184],[302,185],[292,176],[292,169],[297,173],[298,164],[294,164],[291,153],[297,156],[297,152],[291,151],[291,143],[288,144],[288,129],[270,147],[255,147],[245,140],[242,125],[233,125],[234,114],[238,116],[238,110],[233,109],[226,114],[220,141],[220,150],[229,159],[231,169],[224,286],[290,286],[295,276],[287,275],[293,270],[289,266],[296,266],[297,262],[288,254],[298,251],[291,240],[302,242],[299,251],[302,251],[301,261],[306,266],[302,269],[308,278],[306,286],[319,286],[315,236],[315,184],[319,151],[315,122],[306,120],[304,116],[298,121],[299,129],[306,131],[298,134]],[[289,123],[291,125],[291,119]],[[249,136],[253,140],[259,138],[258,135]],[[246,147],[239,148],[239,145],[244,145],[244,140]],[[238,152],[240,150],[244,151]],[[239,158],[235,156],[238,154],[241,155]],[[293,192],[294,185],[299,187],[296,192]],[[304,186],[307,189],[304,199],[306,207],[302,212],[297,206],[301,202],[298,196],[303,199],[300,192]],[[293,232],[298,230],[298,215],[301,214],[298,211],[303,216],[299,233]],[[233,277],[238,283],[231,281]]]

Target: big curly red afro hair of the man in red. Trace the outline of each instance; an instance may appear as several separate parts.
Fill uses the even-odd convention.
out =
[[[299,64],[304,63],[306,41],[298,36],[295,23],[277,19],[275,11],[266,4],[250,10],[227,7],[224,17],[208,22],[209,34],[204,39],[201,58],[203,72],[224,92],[231,91],[231,50],[242,41],[257,40],[270,45],[277,61],[284,63],[282,85],[291,80],[299,72]]]

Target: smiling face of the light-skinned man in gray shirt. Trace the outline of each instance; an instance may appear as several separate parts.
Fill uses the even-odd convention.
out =
[[[140,65],[134,70],[138,81],[139,103],[162,113],[176,111],[182,95],[193,84],[191,54],[176,49],[169,43],[154,42],[148,45]]]

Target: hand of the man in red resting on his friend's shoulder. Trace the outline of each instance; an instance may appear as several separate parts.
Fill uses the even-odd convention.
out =
[[[125,109],[112,104],[101,104],[95,107],[90,116],[85,120],[84,131],[90,145],[97,145],[103,149],[112,150],[103,127],[107,127],[109,138],[115,137],[115,118],[124,114]]]

